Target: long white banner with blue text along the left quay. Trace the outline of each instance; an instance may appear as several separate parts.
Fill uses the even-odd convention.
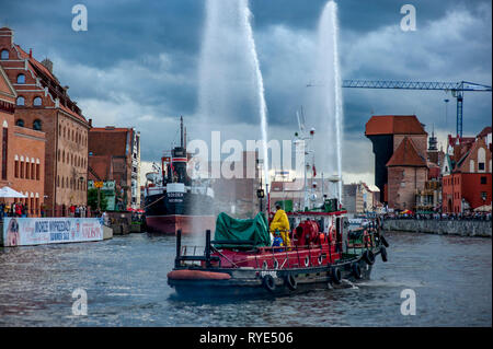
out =
[[[98,218],[3,219],[3,246],[74,243],[103,240]]]

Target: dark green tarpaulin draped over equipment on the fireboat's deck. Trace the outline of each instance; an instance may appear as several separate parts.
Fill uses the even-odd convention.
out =
[[[271,233],[268,222],[263,213],[257,213],[253,219],[234,219],[225,212],[218,214],[216,220],[215,241],[228,241],[221,243],[222,247],[240,247],[234,241],[252,241],[254,246],[271,246]]]

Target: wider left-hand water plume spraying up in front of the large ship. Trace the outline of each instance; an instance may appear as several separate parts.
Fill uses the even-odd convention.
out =
[[[232,128],[230,125],[244,125],[253,120],[260,126],[259,133],[266,144],[267,108],[248,0],[206,1],[196,114],[200,136],[207,137],[204,139],[206,141],[213,130],[221,131],[222,141],[251,139],[251,135],[241,135],[238,127]],[[209,150],[210,146],[209,142]],[[264,158],[264,173],[267,174],[266,147],[261,156]],[[268,181],[267,176],[265,178]],[[231,197],[216,197],[216,201],[231,201]]]

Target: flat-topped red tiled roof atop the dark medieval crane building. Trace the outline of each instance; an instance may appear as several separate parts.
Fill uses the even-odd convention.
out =
[[[366,123],[365,135],[424,135],[415,115],[374,115]]]

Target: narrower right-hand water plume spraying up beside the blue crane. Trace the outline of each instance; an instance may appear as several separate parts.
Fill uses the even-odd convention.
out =
[[[337,5],[329,1],[319,20],[317,53],[314,57],[313,88],[310,90],[308,117],[317,129],[317,163],[330,175],[342,179],[343,101],[339,61]],[[342,181],[339,182],[339,199]]]

